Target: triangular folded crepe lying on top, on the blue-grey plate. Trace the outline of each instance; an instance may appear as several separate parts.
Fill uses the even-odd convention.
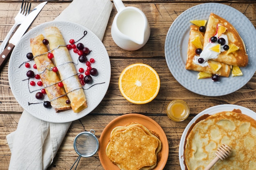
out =
[[[224,34],[227,35],[229,47],[231,46],[231,44],[235,44],[239,47],[239,49],[229,54],[227,54],[227,51],[222,51],[220,54],[218,54],[217,58],[214,58],[212,60],[232,66],[247,66],[248,55],[245,50],[245,43],[243,42],[243,39],[240,37],[238,31],[232,24],[214,13],[210,14],[209,20],[207,22],[206,31],[204,34],[204,49],[210,42],[210,38],[216,35],[218,25],[222,25],[227,28],[227,31]]]

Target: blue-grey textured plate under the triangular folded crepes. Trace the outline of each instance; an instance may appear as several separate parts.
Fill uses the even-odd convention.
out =
[[[190,20],[208,20],[213,12],[225,18],[237,29],[245,42],[249,63],[241,68],[243,76],[221,77],[220,83],[211,79],[197,79],[198,72],[186,70],[186,56],[189,41]],[[194,93],[205,96],[221,96],[243,87],[256,71],[256,30],[240,11],[224,4],[205,3],[196,5],[180,14],[171,24],[166,35],[165,58],[173,77],[182,86]]]

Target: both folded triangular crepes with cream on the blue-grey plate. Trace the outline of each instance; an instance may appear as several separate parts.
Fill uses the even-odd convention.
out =
[[[224,26],[227,28],[227,31],[223,33],[223,35],[227,36],[228,43],[227,45],[231,47],[232,44],[235,44],[239,49],[227,53],[227,50],[222,50],[218,53],[217,56],[210,56],[212,53],[211,50],[207,49],[207,45],[211,43],[210,39],[213,36],[217,36],[219,38],[220,35],[216,35],[218,33],[218,26]],[[203,51],[201,54],[197,54],[196,47],[192,43],[193,39],[198,36],[203,46]],[[217,42],[216,42],[217,44]],[[223,48],[223,45],[222,47]],[[204,58],[205,56],[202,55],[209,55],[207,56],[207,60],[204,63],[199,63],[198,59],[200,57]],[[214,70],[211,68],[211,64],[221,64],[219,70]],[[208,74],[218,74],[223,77],[229,77],[230,71],[232,66],[239,66],[245,67],[248,64],[248,55],[246,53],[245,44],[240,37],[238,31],[234,28],[232,24],[230,24],[224,18],[211,13],[209,16],[209,20],[207,22],[206,31],[200,32],[199,26],[191,25],[190,27],[190,34],[189,34],[189,46],[188,46],[188,53],[187,53],[187,60],[186,60],[186,69],[193,70]]]

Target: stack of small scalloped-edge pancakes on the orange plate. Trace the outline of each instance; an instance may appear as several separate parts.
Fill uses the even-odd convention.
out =
[[[106,155],[121,170],[150,170],[161,159],[159,135],[138,123],[115,127]]]

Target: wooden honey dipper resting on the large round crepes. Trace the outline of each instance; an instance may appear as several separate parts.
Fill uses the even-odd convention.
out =
[[[218,150],[216,151],[215,155],[217,155],[212,161],[211,163],[209,163],[209,165],[204,168],[204,170],[210,170],[211,167],[213,167],[213,165],[219,160],[224,160],[227,157],[229,157],[229,155],[231,154],[231,148],[226,145],[226,144],[222,144]]]

